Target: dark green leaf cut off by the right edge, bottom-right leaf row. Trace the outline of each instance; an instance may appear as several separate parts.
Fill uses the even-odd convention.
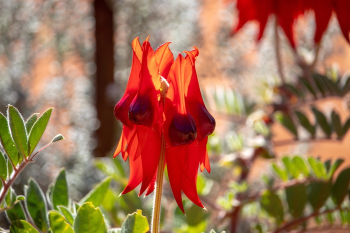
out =
[[[340,172],[332,188],[332,200],[335,205],[340,206],[344,200],[350,183],[350,168]]]

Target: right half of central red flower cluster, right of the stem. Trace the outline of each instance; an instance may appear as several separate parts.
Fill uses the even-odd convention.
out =
[[[198,49],[179,54],[171,66],[169,89],[164,106],[166,163],[172,193],[182,212],[181,191],[199,207],[203,207],[196,191],[197,170],[210,172],[206,152],[207,136],[215,120],[206,110],[195,72]]]

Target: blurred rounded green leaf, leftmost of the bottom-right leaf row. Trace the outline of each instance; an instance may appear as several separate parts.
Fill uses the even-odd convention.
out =
[[[283,206],[277,194],[266,190],[261,196],[260,206],[267,212],[269,216],[276,219],[277,225],[283,222]]]

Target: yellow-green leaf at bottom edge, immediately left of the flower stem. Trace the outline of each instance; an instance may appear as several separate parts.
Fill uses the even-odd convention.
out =
[[[142,216],[142,211],[137,210],[128,214],[121,225],[120,233],[146,233],[149,231],[147,218]]]

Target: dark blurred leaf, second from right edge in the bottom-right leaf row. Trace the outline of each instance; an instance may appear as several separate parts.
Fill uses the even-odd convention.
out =
[[[313,211],[318,211],[325,203],[332,189],[331,181],[314,181],[307,186],[307,200]]]

